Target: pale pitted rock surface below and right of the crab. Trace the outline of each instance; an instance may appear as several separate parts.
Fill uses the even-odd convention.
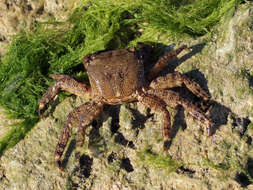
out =
[[[39,1],[27,2],[36,14]],[[173,141],[162,152],[160,115],[139,103],[108,106],[88,128],[80,158],[73,131],[61,172],[53,156],[58,136],[67,114],[87,100],[56,99],[59,104],[49,107],[49,116],[1,157],[0,189],[253,189],[252,10],[252,3],[241,5],[207,43],[206,38],[184,42],[192,50],[172,63],[209,90],[212,137],[180,106],[168,108]]]

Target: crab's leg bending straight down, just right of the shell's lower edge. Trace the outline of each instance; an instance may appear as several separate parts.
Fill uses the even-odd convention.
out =
[[[149,107],[157,113],[162,113],[163,115],[163,150],[166,151],[168,148],[170,133],[171,133],[171,121],[170,114],[166,109],[166,104],[162,100],[157,100],[156,97],[146,93],[139,93],[138,101],[144,106]]]

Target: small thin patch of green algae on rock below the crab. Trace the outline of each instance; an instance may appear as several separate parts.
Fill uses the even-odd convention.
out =
[[[183,165],[182,162],[176,161],[171,157],[165,157],[161,155],[154,154],[151,151],[139,152],[138,157],[144,164],[152,165],[157,169],[166,170],[168,173],[176,171],[180,166]]]

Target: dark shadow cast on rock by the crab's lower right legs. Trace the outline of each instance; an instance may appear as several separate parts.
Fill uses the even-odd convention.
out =
[[[209,93],[208,86],[207,86],[208,81],[205,79],[205,76],[199,70],[192,70],[190,72],[185,73],[185,75],[189,77],[190,79],[199,83],[200,86],[206,92]],[[250,123],[250,120],[248,118],[240,118],[236,116],[236,114],[233,113],[229,107],[219,102],[216,102],[213,100],[210,100],[209,102],[203,102],[202,99],[196,97],[185,86],[183,88],[175,88],[173,90],[180,93],[181,97],[194,103],[210,118],[211,122],[213,123],[212,129],[211,129],[212,135],[215,134],[216,131],[219,130],[219,128],[222,125],[227,124],[229,115],[231,115],[231,118],[233,120],[232,127],[235,128],[241,136],[244,134],[244,132],[247,129],[247,126]],[[176,114],[174,116],[174,123],[172,124],[172,134],[171,134],[172,140],[175,138],[180,128],[182,128],[182,130],[185,130],[187,128],[187,125],[185,122],[184,108],[181,105],[179,105],[175,109],[176,109]]]

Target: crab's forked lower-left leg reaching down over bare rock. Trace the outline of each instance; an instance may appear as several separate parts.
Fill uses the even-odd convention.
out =
[[[80,128],[82,128],[80,129],[82,133],[81,134],[82,138],[79,139],[79,142],[77,142],[78,146],[82,146],[85,139],[86,126],[89,125],[96,116],[98,116],[98,114],[102,111],[102,109],[103,109],[103,103],[91,101],[91,102],[86,102],[82,104],[81,106],[77,107],[68,115],[67,122],[62,129],[59,142],[56,146],[56,150],[54,154],[55,161],[61,170],[63,170],[61,157],[68,143],[68,140],[70,137],[70,131],[73,125],[77,123],[77,125]]]

